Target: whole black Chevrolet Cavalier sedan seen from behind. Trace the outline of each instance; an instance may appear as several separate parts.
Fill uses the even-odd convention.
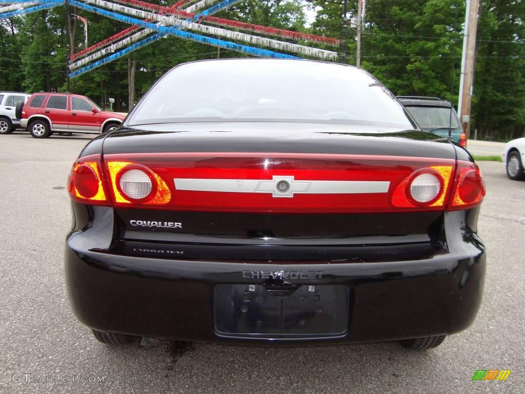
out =
[[[481,303],[477,165],[359,68],[177,66],[87,144],[68,191],[69,299],[103,343],[427,349]]]

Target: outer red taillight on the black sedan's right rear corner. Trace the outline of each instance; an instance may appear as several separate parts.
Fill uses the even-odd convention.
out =
[[[476,164],[458,161],[454,194],[449,210],[463,210],[481,204],[485,196],[485,184]]]

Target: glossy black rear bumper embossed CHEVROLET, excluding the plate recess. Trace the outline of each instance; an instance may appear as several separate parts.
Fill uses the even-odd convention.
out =
[[[271,282],[271,275],[268,278],[268,274],[261,273],[257,278],[252,271],[289,272],[287,282],[292,284],[348,286],[346,331],[330,339],[277,338],[294,344],[453,334],[474,321],[481,303],[485,251],[468,225],[459,225],[468,221],[464,211],[447,213],[448,252],[428,258],[263,264],[111,253],[111,209],[104,210],[107,220],[102,218],[96,221],[98,225],[68,236],[65,253],[71,307],[83,324],[100,331],[180,340],[269,343],[268,338],[224,338],[214,325],[214,286]]]

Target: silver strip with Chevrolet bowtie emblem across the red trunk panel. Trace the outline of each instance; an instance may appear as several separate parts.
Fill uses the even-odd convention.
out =
[[[223,193],[271,193],[272,197],[291,198],[295,194],[386,193],[388,181],[307,181],[293,175],[274,175],[266,179],[175,178],[176,190]]]

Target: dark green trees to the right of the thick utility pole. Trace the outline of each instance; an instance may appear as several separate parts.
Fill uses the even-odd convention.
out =
[[[525,136],[525,3],[482,2],[472,113],[481,137]]]

